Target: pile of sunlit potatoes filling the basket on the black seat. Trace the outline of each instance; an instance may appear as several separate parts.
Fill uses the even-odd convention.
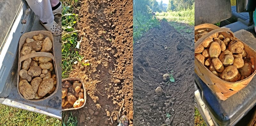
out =
[[[208,29],[195,32],[195,42]],[[195,49],[195,57],[213,74],[229,82],[244,80],[253,73],[251,57],[247,57],[244,45],[239,40],[225,38],[215,33]]]

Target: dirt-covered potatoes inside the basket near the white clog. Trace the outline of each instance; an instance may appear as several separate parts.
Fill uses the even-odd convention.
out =
[[[50,51],[52,51],[52,41],[49,37],[44,39],[39,33],[33,36],[33,39],[26,39],[20,55],[36,52],[51,53]],[[24,60],[19,75],[19,90],[25,99],[41,99],[49,96],[56,89],[57,80],[52,58],[42,56]]]

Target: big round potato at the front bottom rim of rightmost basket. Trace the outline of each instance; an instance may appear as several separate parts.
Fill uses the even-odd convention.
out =
[[[240,76],[236,66],[230,65],[220,74],[220,79],[228,82],[236,82]]]

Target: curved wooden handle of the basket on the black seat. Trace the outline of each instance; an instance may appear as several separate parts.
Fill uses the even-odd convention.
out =
[[[219,32],[228,32],[230,34],[230,36],[232,38],[234,38],[234,33],[231,32],[228,28],[218,28],[218,29],[214,29],[211,32],[208,32],[207,34],[205,34],[204,36],[202,36],[200,39],[198,39],[195,43],[195,49],[204,41],[204,39],[207,39],[208,37],[212,36],[215,33],[219,33]]]

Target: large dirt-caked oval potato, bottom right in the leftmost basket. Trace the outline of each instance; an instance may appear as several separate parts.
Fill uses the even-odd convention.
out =
[[[38,91],[37,91],[38,96],[46,95],[49,91],[52,90],[52,88],[53,88],[53,79],[52,78],[43,80],[38,88]]]

